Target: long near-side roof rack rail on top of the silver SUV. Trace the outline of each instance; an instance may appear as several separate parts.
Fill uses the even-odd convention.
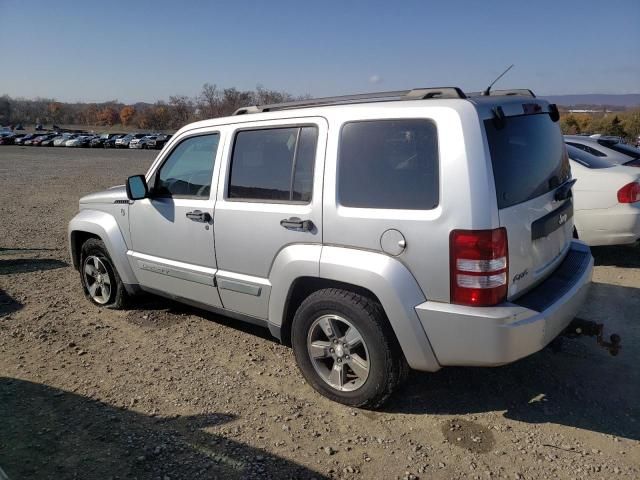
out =
[[[458,87],[442,88],[414,88],[413,90],[394,90],[390,92],[360,93],[357,95],[341,95],[338,97],[310,98],[294,102],[273,103],[271,105],[252,105],[242,107],[233,112],[233,115],[245,115],[248,113],[272,112],[274,110],[286,110],[290,108],[308,108],[327,105],[348,105],[365,102],[384,102],[392,100],[425,100],[429,98],[467,98]]]

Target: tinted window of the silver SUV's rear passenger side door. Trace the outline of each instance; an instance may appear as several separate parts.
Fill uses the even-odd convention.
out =
[[[238,132],[231,159],[229,198],[311,201],[317,142],[316,127]]]

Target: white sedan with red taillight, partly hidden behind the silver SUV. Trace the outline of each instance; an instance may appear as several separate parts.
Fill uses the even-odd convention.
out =
[[[640,168],[616,165],[567,145],[577,236],[590,246],[640,239]]]

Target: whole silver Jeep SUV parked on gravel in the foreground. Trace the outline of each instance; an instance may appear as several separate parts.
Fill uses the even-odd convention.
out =
[[[513,362],[575,316],[593,259],[558,117],[529,90],[242,108],[83,197],[73,264],[98,305],[144,290],[262,324],[317,391],[374,408],[409,367]]]

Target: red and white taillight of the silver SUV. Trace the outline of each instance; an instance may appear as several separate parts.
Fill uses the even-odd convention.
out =
[[[451,303],[486,307],[503,302],[509,275],[506,229],[453,230],[449,243]]]

